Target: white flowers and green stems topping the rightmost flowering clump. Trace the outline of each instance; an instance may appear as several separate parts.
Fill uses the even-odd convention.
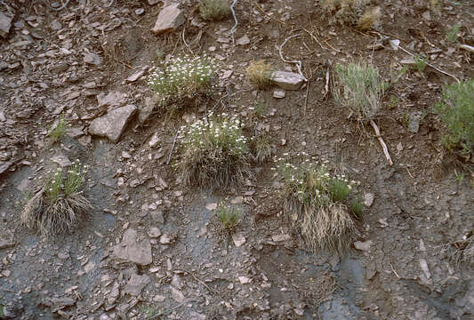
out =
[[[350,192],[358,184],[348,180],[344,174],[331,174],[328,172],[327,160],[317,161],[315,156],[305,152],[297,153],[291,157],[299,159],[299,164],[290,161],[290,155],[285,153],[282,157],[275,158],[276,168],[283,178],[287,191],[295,194],[306,203],[316,201],[319,204],[327,203],[337,193]]]

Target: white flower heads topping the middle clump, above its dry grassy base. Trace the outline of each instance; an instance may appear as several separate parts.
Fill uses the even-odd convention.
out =
[[[181,127],[178,139],[184,148],[197,148],[202,151],[219,149],[233,156],[248,153],[248,141],[242,132],[240,120],[237,116],[229,116],[226,113],[220,116],[210,114],[207,119]]]

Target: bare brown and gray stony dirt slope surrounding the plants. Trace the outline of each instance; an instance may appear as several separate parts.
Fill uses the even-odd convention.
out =
[[[438,68],[472,78],[472,52],[448,42],[446,29],[461,23],[458,44],[474,45],[474,5],[446,0],[437,13],[429,1],[373,3],[382,8],[381,28],[361,33],[330,24],[317,1],[237,1],[232,37],[232,17],[203,21],[197,1],[181,1],[185,23],[159,36],[150,29],[161,1],[71,0],[62,9],[48,0],[0,1],[0,12],[12,17],[9,33],[0,37],[5,316],[472,319],[473,266],[453,260],[463,249],[456,242],[474,227],[472,165],[446,153],[442,124],[432,112],[442,86],[454,79],[412,66],[390,86],[376,118],[390,166],[370,126],[350,120],[325,92],[325,75],[337,62],[363,58],[390,79],[390,66],[400,69],[407,58],[390,48],[388,41],[397,38]],[[296,71],[278,53],[294,35],[301,36],[289,40],[283,53],[301,60],[308,84],[283,99],[273,98],[273,88],[254,89],[245,78],[251,60]],[[202,101],[182,117],[152,115],[141,122],[157,51],[207,52],[218,64],[221,99]],[[116,100],[140,109],[116,144],[88,134],[92,119],[106,111],[98,96],[110,92],[124,93]],[[229,192],[183,187],[172,164],[184,119],[214,108],[250,122],[255,101],[267,110],[258,129],[271,134],[276,156],[305,151],[361,181],[368,203],[358,249],[340,257],[304,248],[282,217],[271,162],[255,164],[255,178]],[[71,128],[52,145],[48,127],[61,114]],[[151,147],[155,133],[159,140]],[[46,238],[20,226],[19,203],[32,179],[60,162],[58,156],[91,166],[85,194],[95,210],[73,234]],[[243,212],[234,236],[218,232],[208,210],[226,197]],[[130,249],[134,258],[118,259],[117,247]]]

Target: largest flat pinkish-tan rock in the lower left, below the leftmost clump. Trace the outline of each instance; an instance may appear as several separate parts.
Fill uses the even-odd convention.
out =
[[[146,266],[151,263],[151,244],[149,239],[138,241],[137,232],[133,228],[125,231],[121,244],[114,246],[114,254],[122,260]]]

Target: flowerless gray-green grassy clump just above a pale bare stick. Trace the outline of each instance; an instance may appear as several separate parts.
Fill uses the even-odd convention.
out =
[[[362,119],[372,119],[381,108],[385,83],[373,65],[337,64],[333,76],[333,97]]]

